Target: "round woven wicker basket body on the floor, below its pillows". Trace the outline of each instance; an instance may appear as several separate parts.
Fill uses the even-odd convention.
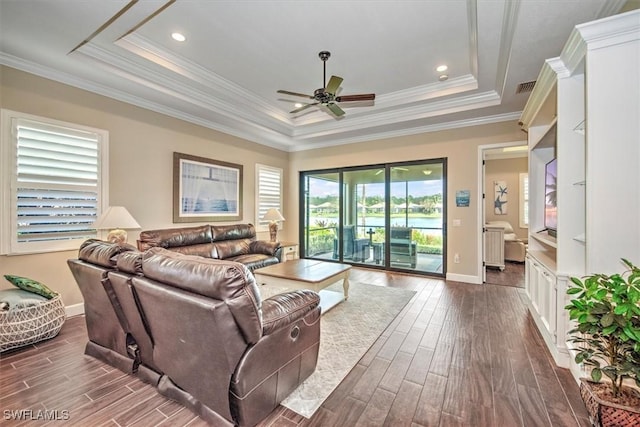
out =
[[[0,351],[58,335],[66,319],[60,295],[25,308],[0,312]]]

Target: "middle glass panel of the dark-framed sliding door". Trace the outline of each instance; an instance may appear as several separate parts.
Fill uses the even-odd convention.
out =
[[[384,265],[385,167],[343,172],[342,257],[345,262]]]

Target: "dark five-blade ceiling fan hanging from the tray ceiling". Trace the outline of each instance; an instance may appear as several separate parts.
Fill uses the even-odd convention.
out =
[[[340,108],[337,102],[353,102],[353,101],[373,101],[376,99],[375,93],[366,93],[359,95],[341,95],[336,96],[336,92],[338,88],[342,84],[342,77],[331,76],[329,79],[329,83],[327,84],[327,60],[331,56],[331,52],[323,50],[318,54],[323,63],[323,78],[322,78],[322,87],[320,89],[316,89],[313,92],[313,95],[306,95],[304,93],[291,92],[288,90],[279,90],[278,93],[283,93],[285,95],[293,95],[293,96],[301,96],[303,98],[313,99],[316,102],[311,102],[309,104],[304,104],[300,108],[296,108],[291,111],[291,114],[299,113],[300,111],[306,110],[309,107],[314,105],[323,105],[327,107],[334,116],[340,117],[344,115],[344,110]]]

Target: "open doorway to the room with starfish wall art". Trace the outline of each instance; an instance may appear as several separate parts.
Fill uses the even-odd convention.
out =
[[[528,238],[528,147],[480,147],[482,281],[524,287]]]

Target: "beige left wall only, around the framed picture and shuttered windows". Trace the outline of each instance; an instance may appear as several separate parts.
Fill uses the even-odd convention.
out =
[[[243,165],[243,219],[238,222],[255,223],[255,164],[287,171],[286,152],[12,68],[0,68],[0,73],[2,108],[109,131],[109,203],[125,206],[143,229],[190,225],[172,223],[174,151]],[[129,242],[137,236],[130,232]],[[261,237],[268,239],[268,232]],[[78,304],[82,296],[66,265],[75,255],[0,256],[0,274],[42,281],[62,294],[65,305]],[[0,288],[9,287],[2,280]]]

